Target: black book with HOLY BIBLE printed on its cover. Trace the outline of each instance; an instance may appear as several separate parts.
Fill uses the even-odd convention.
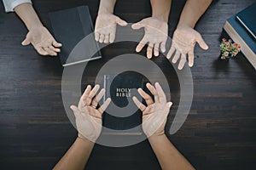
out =
[[[102,134],[140,135],[143,133],[141,125],[142,112],[132,101],[137,88],[143,88],[143,76],[138,73],[121,73],[119,75],[104,75],[104,100],[110,97],[112,102],[103,114],[103,126],[112,130],[102,130]]]

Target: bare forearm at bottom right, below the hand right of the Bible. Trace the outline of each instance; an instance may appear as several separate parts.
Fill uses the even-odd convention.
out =
[[[151,136],[148,141],[157,156],[160,166],[164,170],[189,170],[191,166],[181,153],[167,139],[166,135]]]

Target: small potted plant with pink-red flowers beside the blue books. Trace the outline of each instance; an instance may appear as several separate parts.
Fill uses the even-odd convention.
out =
[[[237,43],[233,43],[232,40],[222,39],[220,43],[220,59],[231,59],[236,57],[236,54],[240,52],[241,46]]]

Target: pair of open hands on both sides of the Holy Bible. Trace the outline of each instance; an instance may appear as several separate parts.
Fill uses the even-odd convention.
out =
[[[146,94],[142,88],[138,93],[145,99],[147,106],[143,105],[136,97],[133,97],[134,103],[143,111],[143,132],[148,136],[159,136],[165,133],[166,119],[169,114],[172,102],[166,101],[166,94],[158,82],[155,86],[147,83],[147,88],[154,95],[154,100]],[[79,138],[89,139],[95,142],[102,131],[102,113],[108,108],[111,99],[108,98],[101,107],[96,109],[98,102],[105,94],[105,89],[97,94],[100,86],[96,85],[91,89],[90,85],[84,91],[79,105],[72,105],[76,125],[79,132]]]

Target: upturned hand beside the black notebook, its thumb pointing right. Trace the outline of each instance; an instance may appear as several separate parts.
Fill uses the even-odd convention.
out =
[[[127,26],[125,20],[121,20],[114,14],[99,14],[96,18],[95,39],[97,42],[112,43],[115,38],[116,25]]]

